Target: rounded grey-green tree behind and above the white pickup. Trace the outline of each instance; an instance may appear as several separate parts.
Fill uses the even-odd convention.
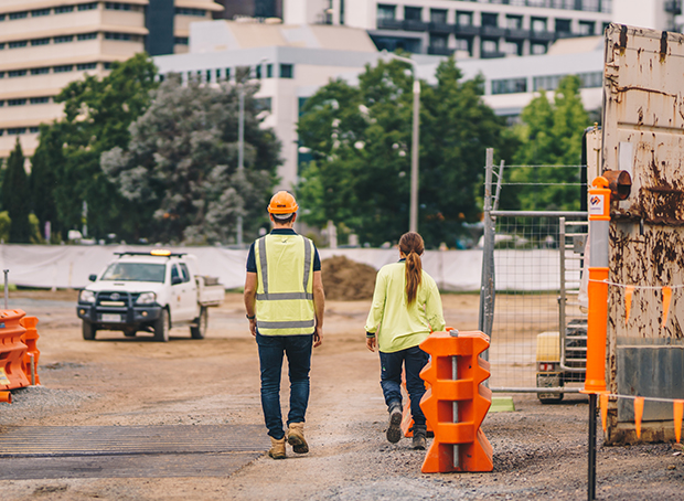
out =
[[[227,243],[237,216],[256,236],[276,182],[280,145],[260,127],[254,85],[245,92],[245,169],[237,170],[238,93],[168,78],[130,127],[128,148],[101,157],[104,172],[138,214],[137,232],[156,241]]]

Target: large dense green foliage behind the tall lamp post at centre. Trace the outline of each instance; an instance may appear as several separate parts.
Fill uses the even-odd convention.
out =
[[[298,196],[312,225],[343,222],[362,242],[396,242],[408,228],[413,76],[393,60],[366,66],[359,85],[338,79],[319,89],[299,120],[314,161]],[[510,148],[504,124],[481,98],[482,81],[462,81],[453,60],[436,85],[421,82],[419,231],[426,244],[450,245],[479,218],[484,150]]]

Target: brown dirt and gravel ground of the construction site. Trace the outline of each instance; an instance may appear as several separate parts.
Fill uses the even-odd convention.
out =
[[[70,430],[100,427],[114,430],[115,437],[120,430],[121,440],[139,436],[132,431],[149,430],[140,438],[148,445],[163,430],[170,449],[148,455],[142,448],[125,457],[126,468],[120,463],[124,457],[116,462],[94,456],[86,458],[87,467],[70,470],[63,465],[60,471],[65,472],[52,475],[55,478],[42,470],[44,458],[12,459],[0,450],[2,500],[587,497],[588,405],[580,395],[542,405],[535,395],[515,394],[515,412],[489,414],[483,430],[494,450],[492,472],[424,475],[425,451],[412,450],[409,439],[387,443],[378,358],[366,350],[364,339],[370,300],[328,301],[323,345],[314,350],[311,371],[307,416],[311,451],[297,456],[288,448],[282,461],[265,455],[257,349],[242,295],[228,294],[223,306],[211,310],[206,339],[191,340],[186,328],[173,329],[165,344],[152,342],[149,334],[125,338],[120,332],[98,332],[96,341],[84,341],[75,305],[72,290],[11,292],[11,308],[40,319],[41,386],[13,391],[14,403],[0,404],[0,444],[2,435],[18,430],[28,429],[36,437],[45,429],[62,430],[64,441]],[[445,295],[443,305],[448,324],[477,328],[478,296]],[[287,409],[285,377],[284,372]],[[241,436],[227,438],[252,445],[243,444],[242,456],[236,451],[234,457],[225,451],[174,455],[174,430],[186,437],[189,427],[205,433],[206,441],[212,434],[233,430]],[[217,443],[224,439],[215,436]],[[160,457],[168,460],[160,462]],[[681,448],[672,444],[599,444],[597,498],[682,499],[682,458]],[[21,468],[11,470],[12,465]]]

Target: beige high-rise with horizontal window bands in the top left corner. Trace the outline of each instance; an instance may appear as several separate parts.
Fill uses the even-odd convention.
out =
[[[54,97],[85,74],[147,50],[189,50],[190,23],[223,7],[210,0],[2,0],[0,2],[0,159],[19,137],[38,146],[39,125],[62,115]]]

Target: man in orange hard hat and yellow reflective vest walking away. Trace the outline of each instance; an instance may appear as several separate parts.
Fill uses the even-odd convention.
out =
[[[325,295],[321,259],[309,238],[298,235],[297,202],[279,191],[268,205],[274,230],[249,247],[245,308],[252,335],[259,347],[261,408],[270,436],[268,455],[285,459],[285,443],[297,454],[309,451],[304,415],[309,403],[311,348],[323,340]],[[280,413],[280,372],[287,355],[290,375],[290,411],[287,434]]]

